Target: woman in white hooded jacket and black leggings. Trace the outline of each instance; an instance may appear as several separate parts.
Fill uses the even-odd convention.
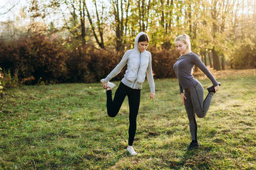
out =
[[[107,90],[107,110],[109,117],[115,117],[120,110],[125,96],[128,96],[129,101],[129,141],[127,151],[131,155],[137,155],[132,147],[134,136],[136,132],[136,118],[140,107],[140,91],[142,83],[145,81],[147,74],[147,80],[150,85],[150,98],[153,100],[155,96],[155,84],[152,74],[152,57],[148,52],[148,36],[145,32],[140,32],[134,43],[132,50],[125,52],[120,63],[108,74],[108,76],[100,82],[102,82],[103,88]],[[122,68],[127,64],[127,70],[125,71],[124,78],[116,90],[115,97],[112,99],[112,89],[116,87],[114,83],[109,80],[115,77]]]

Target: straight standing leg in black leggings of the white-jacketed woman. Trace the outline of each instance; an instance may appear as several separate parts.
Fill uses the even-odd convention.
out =
[[[127,94],[129,100],[129,141],[128,145],[132,146],[134,141],[134,136],[136,133],[136,120],[140,107],[140,90],[137,89],[129,89]]]

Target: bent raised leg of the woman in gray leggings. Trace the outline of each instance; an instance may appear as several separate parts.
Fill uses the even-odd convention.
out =
[[[195,86],[189,87],[189,90],[196,115],[199,118],[205,117],[207,111],[209,110],[214,93],[209,93],[204,99],[204,87],[199,81]]]

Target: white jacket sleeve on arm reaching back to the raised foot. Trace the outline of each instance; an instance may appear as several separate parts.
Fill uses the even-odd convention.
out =
[[[120,73],[120,71],[123,69],[123,67],[125,66],[125,64],[127,64],[127,60],[129,58],[131,51],[127,51],[124,53],[124,56],[122,57],[122,60],[116,65],[116,67],[108,74],[108,76],[106,78],[104,78],[104,80],[106,82],[108,82],[109,80],[111,80],[111,78],[115,77],[117,74]]]

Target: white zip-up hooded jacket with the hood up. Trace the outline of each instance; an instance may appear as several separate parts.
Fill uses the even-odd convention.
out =
[[[152,74],[152,56],[147,50],[140,52],[138,49],[138,40],[142,34],[147,34],[145,32],[140,32],[134,43],[134,48],[132,50],[127,50],[124,53],[122,60],[117,64],[115,69],[108,74],[104,80],[108,82],[111,78],[115,77],[120,73],[122,68],[127,64],[127,70],[125,71],[124,78],[121,80],[122,83],[131,87],[132,89],[142,89],[142,84],[145,81],[146,73],[147,80],[150,86],[150,92],[155,92],[155,83]]]

